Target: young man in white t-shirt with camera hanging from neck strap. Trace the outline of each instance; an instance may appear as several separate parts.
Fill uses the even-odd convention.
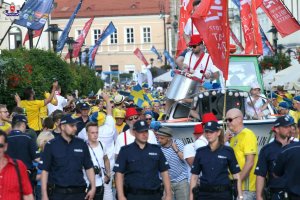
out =
[[[87,130],[87,145],[90,151],[92,162],[94,164],[96,193],[95,200],[103,200],[104,183],[108,183],[111,178],[110,164],[107,157],[106,146],[98,140],[98,125],[95,122],[88,122]],[[89,184],[89,181],[84,173],[84,179]]]

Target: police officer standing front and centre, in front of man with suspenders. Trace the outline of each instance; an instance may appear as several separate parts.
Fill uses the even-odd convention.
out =
[[[145,120],[133,125],[135,142],[123,146],[114,166],[118,200],[161,200],[161,174],[165,199],[171,200],[169,165],[160,147],[149,144]]]

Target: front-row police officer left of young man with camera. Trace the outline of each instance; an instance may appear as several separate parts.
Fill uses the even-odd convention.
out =
[[[77,120],[65,115],[60,121],[61,135],[50,140],[44,149],[41,185],[42,199],[92,200],[95,195],[95,172],[87,144],[75,137]],[[91,189],[87,194],[82,169],[86,170]],[[47,191],[48,186],[48,191]]]

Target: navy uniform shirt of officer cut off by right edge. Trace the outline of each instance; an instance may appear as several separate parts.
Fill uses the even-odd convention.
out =
[[[275,161],[274,174],[286,177],[286,188],[293,195],[300,196],[300,143],[285,146]]]

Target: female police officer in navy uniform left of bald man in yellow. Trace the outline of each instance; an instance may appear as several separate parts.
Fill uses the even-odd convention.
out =
[[[209,121],[205,124],[204,134],[208,145],[196,152],[191,170],[190,200],[232,200],[228,168],[237,180],[238,199],[243,199],[239,173],[241,170],[233,149],[223,144],[221,126],[218,122]],[[196,186],[201,172],[200,186]]]

